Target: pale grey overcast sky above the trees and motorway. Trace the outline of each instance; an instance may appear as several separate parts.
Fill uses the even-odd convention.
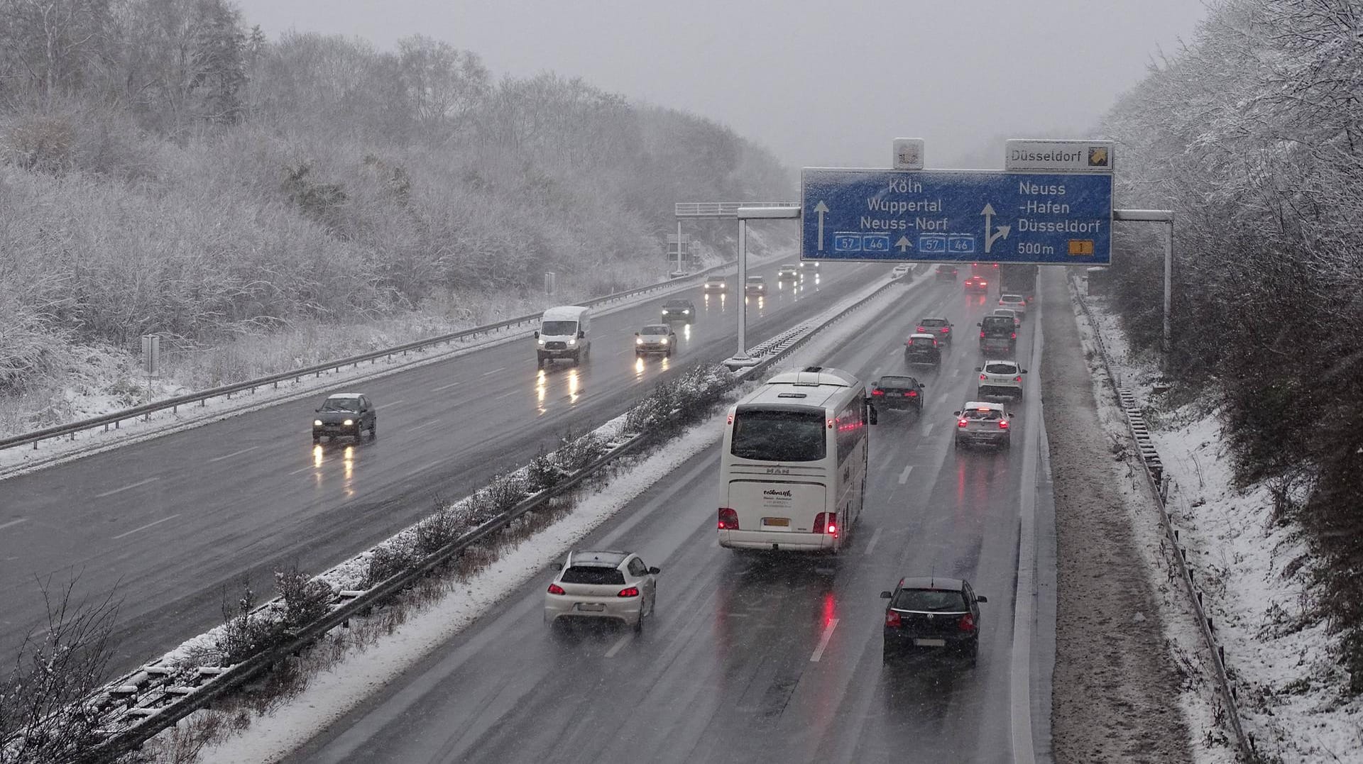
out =
[[[1002,138],[1084,138],[1201,0],[237,0],[248,25],[409,34],[497,76],[553,71],[731,125],[792,168],[889,166],[895,136],[930,168],[1002,166]],[[981,163],[985,162],[985,163]]]

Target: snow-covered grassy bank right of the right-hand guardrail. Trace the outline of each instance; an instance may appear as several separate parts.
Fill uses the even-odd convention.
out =
[[[1149,406],[1153,361],[1134,360],[1104,302],[1088,302],[1114,373]],[[1171,481],[1167,507],[1225,648],[1246,733],[1284,764],[1363,763],[1363,699],[1344,695],[1348,675],[1325,624],[1295,625],[1311,601],[1300,576],[1284,573],[1308,552],[1299,528],[1273,522],[1269,486],[1234,488],[1221,424],[1205,402],[1150,424]]]

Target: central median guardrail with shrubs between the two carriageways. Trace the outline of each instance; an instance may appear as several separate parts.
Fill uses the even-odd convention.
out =
[[[829,315],[806,321],[751,349],[750,353],[755,358],[761,358],[761,361],[754,366],[733,373],[732,380],[737,383],[744,379],[761,379],[773,365],[785,360],[825,328],[851,316],[883,291],[902,287],[902,283],[912,281],[886,281],[874,289],[867,289],[864,293],[849,298],[848,304],[841,308],[836,306],[830,309]],[[912,287],[925,283],[928,283],[927,279],[919,279]],[[725,384],[722,389],[714,389],[709,398],[709,404],[718,402],[728,387],[732,387],[732,384]],[[637,404],[637,407],[643,404]],[[680,414],[680,411],[673,410],[668,418],[676,421]],[[628,414],[622,421],[627,418]],[[282,641],[249,658],[226,666],[189,666],[185,663],[172,663],[162,658],[114,680],[82,704],[98,715],[98,729],[104,741],[85,750],[78,757],[78,761],[82,764],[106,763],[139,749],[154,735],[169,729],[189,714],[200,708],[207,708],[214,700],[241,688],[269,671],[281,660],[288,659],[290,655],[297,655],[298,651],[319,640],[328,631],[346,625],[350,618],[363,616],[373,607],[382,606],[398,592],[413,587],[420,579],[448,565],[465,549],[488,539],[511,524],[517,518],[527,512],[548,508],[552,500],[572,492],[583,481],[592,478],[616,459],[637,452],[646,445],[661,443],[671,437],[673,432],[676,432],[676,428],[662,426],[652,428],[643,433],[623,433],[617,436],[617,440],[607,444],[601,455],[579,468],[564,474],[562,481],[555,483],[553,488],[525,496],[514,507],[481,522],[435,552],[420,557],[401,572],[363,591],[333,591],[323,614],[305,624],[296,625],[288,631]],[[399,531],[394,538],[413,531],[414,527],[412,526]],[[363,554],[371,554],[383,543],[388,542],[382,542]],[[338,568],[339,565],[333,568],[333,571]],[[285,610],[286,603],[282,598],[275,598],[252,610],[251,616],[279,614]],[[4,741],[0,741],[0,745],[4,745]]]

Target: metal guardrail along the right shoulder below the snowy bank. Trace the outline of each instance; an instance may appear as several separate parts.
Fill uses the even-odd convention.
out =
[[[1145,464],[1145,477],[1154,493],[1154,504],[1160,509],[1160,522],[1164,526],[1164,537],[1174,549],[1174,560],[1179,569],[1179,577],[1183,579],[1183,590],[1189,595],[1189,602],[1193,605],[1193,610],[1198,616],[1202,639],[1212,651],[1212,665],[1216,667],[1217,690],[1223,703],[1225,703],[1227,718],[1231,722],[1231,731],[1235,733],[1236,746],[1247,760],[1254,760],[1253,757],[1257,754],[1254,750],[1254,741],[1244,734],[1244,727],[1240,722],[1239,695],[1235,690],[1235,685],[1231,684],[1231,678],[1225,667],[1225,647],[1223,647],[1216,639],[1216,624],[1202,607],[1202,588],[1199,588],[1193,579],[1193,568],[1189,565],[1187,547],[1180,543],[1179,530],[1174,527],[1174,519],[1169,516],[1169,511],[1165,504],[1165,500],[1168,498],[1169,481],[1164,474],[1164,462],[1154,449],[1154,441],[1150,439],[1150,430],[1145,425],[1145,414],[1141,413],[1139,406],[1135,403],[1135,395],[1131,394],[1130,388],[1122,385],[1119,376],[1112,372],[1111,355],[1108,354],[1107,346],[1103,343],[1103,334],[1099,331],[1097,321],[1093,320],[1093,312],[1089,309],[1088,301],[1084,298],[1084,294],[1079,293],[1074,279],[1070,278],[1069,281],[1071,294],[1074,294],[1075,302],[1079,304],[1079,309],[1084,311],[1084,317],[1089,321],[1089,327],[1093,330],[1093,339],[1099,347],[1099,355],[1103,358],[1103,369],[1107,373],[1108,385],[1112,388],[1112,392],[1116,394],[1118,400],[1122,403],[1122,410],[1126,413],[1127,432],[1130,433],[1131,440],[1135,441],[1137,449],[1141,452],[1141,462]]]

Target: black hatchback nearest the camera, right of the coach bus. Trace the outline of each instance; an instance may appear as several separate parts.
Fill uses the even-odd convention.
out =
[[[962,656],[973,666],[980,651],[980,603],[970,583],[961,579],[900,579],[894,591],[882,591],[885,606],[885,660],[909,652]]]

